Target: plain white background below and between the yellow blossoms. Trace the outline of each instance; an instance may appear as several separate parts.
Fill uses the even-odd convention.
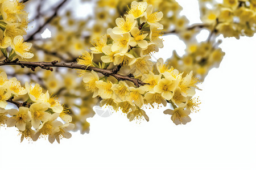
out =
[[[180,2],[198,21],[197,1]],[[177,44],[165,37],[156,56],[169,57],[170,46],[182,53]],[[225,39],[221,48],[226,55],[200,85],[201,111],[187,125],[176,126],[162,108],[141,124],[96,114],[89,134],[72,133],[60,145],[20,143],[15,128],[2,128],[0,169],[256,169],[256,37]]]

